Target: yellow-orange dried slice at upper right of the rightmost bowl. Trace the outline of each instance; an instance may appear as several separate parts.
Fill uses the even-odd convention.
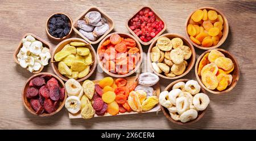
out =
[[[226,71],[232,69],[232,67],[234,66],[232,59],[226,57],[219,57],[214,61],[214,63],[216,63],[218,67]]]

